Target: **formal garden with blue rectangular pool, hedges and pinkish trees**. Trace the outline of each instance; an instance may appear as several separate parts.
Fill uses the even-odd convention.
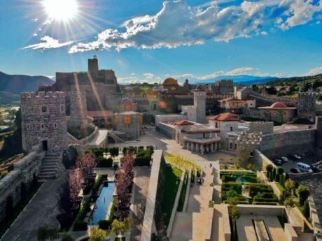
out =
[[[87,150],[78,157],[69,169],[69,184],[64,187],[59,206],[62,214],[59,220],[62,231],[87,231],[92,236],[116,235],[116,240],[124,240],[124,233],[133,225],[130,215],[130,200],[134,180],[134,165],[146,161],[150,165],[153,147],[146,149],[125,149],[119,153],[117,147]],[[94,168],[113,167],[116,157],[121,168],[116,168],[114,182],[107,175],[96,175]],[[107,157],[107,158],[106,158]],[[111,160],[112,159],[112,160]],[[142,161],[144,160],[144,161]],[[148,160],[148,161],[147,161]],[[109,162],[109,165],[102,162]],[[42,227],[43,228],[43,227]],[[48,231],[49,233],[52,231]]]

